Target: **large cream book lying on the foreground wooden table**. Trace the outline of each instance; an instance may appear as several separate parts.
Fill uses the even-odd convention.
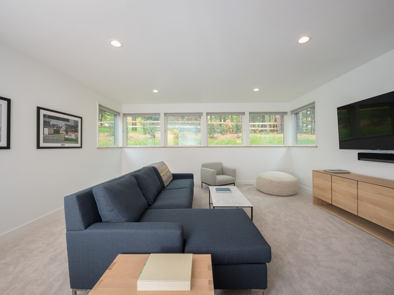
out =
[[[137,281],[138,291],[190,291],[193,254],[151,254]]]

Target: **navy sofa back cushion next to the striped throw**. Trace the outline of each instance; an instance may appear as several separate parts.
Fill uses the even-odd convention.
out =
[[[156,175],[153,167],[145,167],[141,171],[134,173],[133,176],[137,180],[138,187],[144,195],[148,205],[152,205],[157,194],[162,190],[162,184]]]

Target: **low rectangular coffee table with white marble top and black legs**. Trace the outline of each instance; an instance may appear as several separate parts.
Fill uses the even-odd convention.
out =
[[[228,187],[230,193],[217,193],[216,187]],[[209,207],[223,208],[223,207],[236,207],[236,208],[250,208],[250,219],[253,220],[253,205],[245,198],[236,186],[209,186]],[[212,198],[212,203],[211,203]]]

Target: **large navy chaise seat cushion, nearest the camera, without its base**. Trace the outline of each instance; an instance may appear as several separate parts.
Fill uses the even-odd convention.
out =
[[[185,253],[211,254],[212,264],[271,261],[271,247],[241,208],[146,210],[138,221],[183,224]]]

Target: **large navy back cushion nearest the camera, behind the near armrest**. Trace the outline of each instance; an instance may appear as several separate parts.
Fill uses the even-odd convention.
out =
[[[93,188],[103,222],[136,222],[148,207],[131,175]]]

